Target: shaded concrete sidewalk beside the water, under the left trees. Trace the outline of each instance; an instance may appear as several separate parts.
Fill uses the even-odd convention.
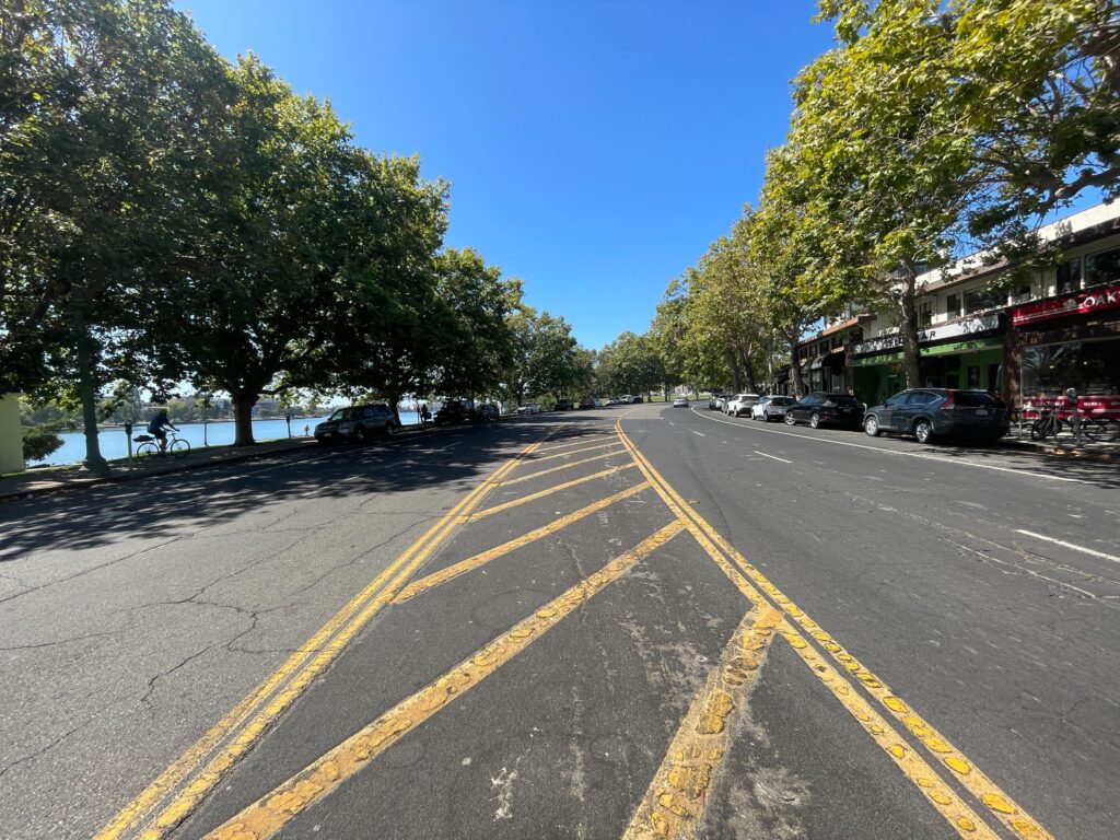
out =
[[[431,433],[436,428],[431,424],[424,427],[405,426],[400,430],[395,439],[409,439],[418,435]],[[439,428],[447,430],[458,427],[442,426]],[[0,504],[17,498],[27,498],[48,493],[65,493],[109,482],[133,482],[153,475],[185,473],[192,469],[222,466],[223,464],[235,464],[237,461],[255,460],[269,456],[315,451],[317,449],[323,451],[325,447],[318,444],[315,438],[269,440],[246,448],[233,446],[199,448],[192,449],[184,458],[168,456],[164,458],[111,460],[109,465],[112,473],[108,477],[92,475],[82,465],[31,469],[16,475],[0,476]]]

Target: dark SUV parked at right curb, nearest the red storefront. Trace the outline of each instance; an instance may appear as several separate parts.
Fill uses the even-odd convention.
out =
[[[977,438],[996,441],[1007,435],[1007,405],[988,391],[917,388],[872,405],[864,414],[864,431],[913,435],[920,444],[933,438]]]

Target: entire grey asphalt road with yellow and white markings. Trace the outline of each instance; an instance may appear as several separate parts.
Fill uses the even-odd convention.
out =
[[[0,507],[4,838],[1120,824],[1120,470],[642,405]]]

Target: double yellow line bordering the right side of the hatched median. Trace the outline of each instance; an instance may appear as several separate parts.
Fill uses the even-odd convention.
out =
[[[1042,824],[1030,816],[1020,805],[1018,805],[1007,793],[1005,793],[995,782],[992,782],[987,775],[984,775],[979,767],[976,766],[968,757],[964,756],[956,747],[954,747],[941,732],[939,732],[928,721],[922,718],[916,711],[914,711],[907,703],[900,700],[890,688],[880,680],[875,673],[868,671],[864,668],[860,662],[848,653],[840,644],[838,644],[824,629],[816,624],[812,618],[810,618],[803,610],[801,610],[790,598],[787,598],[777,587],[775,587],[758,569],[752,566],[746,558],[743,557],[730,543],[725,540],[718,531],[716,531],[699,513],[697,513],[681,496],[673,489],[657,470],[646,460],[637,447],[629,440],[626,433],[622,430],[622,422],[615,423],[615,430],[623,441],[623,445],[633,456],[634,460],[637,461],[638,468],[645,474],[646,478],[653,485],[654,491],[661,496],[662,501],[669,506],[671,511],[679,517],[687,520],[685,528],[689,532],[697,536],[698,533],[703,533],[703,538],[697,536],[701,547],[706,549],[709,557],[716,561],[721,570],[728,575],[731,580],[739,587],[740,591],[747,595],[748,598],[754,604],[763,603],[773,604],[777,609],[781,609],[787,618],[792,619],[796,624],[800,624],[808,634],[823,647],[829,655],[840,663],[840,666],[852,674],[855,679],[855,684],[861,687],[867,691],[875,700],[877,700],[892,717],[902,722],[906,729],[918,739],[918,743],[925,748],[925,750],[936,760],[939,766],[948,768],[945,772],[950,776],[961,784],[970,794],[972,794],[979,802],[981,802],[989,815],[1001,822],[1016,836],[1024,838],[1024,840],[1053,840],[1053,837],[1042,827]],[[710,539],[709,539],[710,538]],[[719,551],[716,551],[716,547],[719,547]],[[732,567],[726,558],[730,558],[734,563],[738,567]],[[741,572],[746,573],[744,577]],[[754,580],[754,585],[749,580]],[[792,635],[791,635],[792,634]],[[793,631],[792,625],[788,625],[788,633],[786,633],[787,640],[791,644],[797,648],[794,636],[801,640],[802,644],[808,644],[804,638]],[[801,648],[797,648],[799,653]],[[809,660],[805,656],[802,659],[809,664]],[[823,663],[823,657],[821,659]],[[812,665],[813,672],[821,676],[822,672]],[[823,679],[823,678],[822,678]],[[843,681],[843,691],[833,690],[833,693],[838,697],[846,696],[850,692],[848,685],[848,680]],[[830,688],[832,688],[830,685]],[[862,700],[860,700],[862,702]],[[855,707],[846,706],[861,725],[867,724],[862,718],[860,718],[853,711]],[[868,707],[869,709],[870,707]],[[864,711],[860,709],[860,711]],[[876,720],[874,722],[876,726],[883,726],[885,721],[876,715]],[[865,726],[871,735],[876,732]],[[885,730],[886,731],[886,730]],[[890,731],[894,731],[893,729]],[[878,740],[877,740],[878,743]],[[880,743],[880,746],[883,744]],[[939,811],[949,816],[949,812],[945,808],[949,805],[941,803],[942,787],[937,787],[937,782],[926,775],[914,775],[918,769],[922,769],[917,764],[914,764],[909,756],[912,750],[907,749],[900,744],[895,744],[897,749],[888,748],[887,752],[890,754],[892,758],[895,760],[896,765],[903,769],[903,772],[914,782],[915,785],[922,791],[927,800],[933,802]],[[899,754],[903,750],[903,755]],[[916,756],[914,756],[916,758]],[[905,760],[903,760],[905,759]],[[928,768],[928,765],[923,766]],[[924,772],[924,771],[923,771]],[[930,783],[930,784],[926,784]],[[930,785],[934,786],[930,786]],[[945,788],[949,790],[949,788]],[[939,799],[933,799],[932,792],[936,791]],[[944,795],[955,796],[951,790]],[[950,802],[952,808],[958,808],[955,804]],[[962,837],[988,837],[982,831],[989,831],[989,829],[982,822],[977,822],[964,815],[964,821],[953,821],[950,820],[951,824],[956,829],[958,833]],[[971,824],[971,828],[969,825]],[[990,834],[995,837],[993,834]]]

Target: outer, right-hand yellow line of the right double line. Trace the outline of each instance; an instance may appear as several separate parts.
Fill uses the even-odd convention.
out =
[[[637,451],[637,447],[629,440],[622,430],[622,423],[616,422],[616,431],[623,445],[629,450],[638,468],[653,484],[655,491],[671,510],[683,511],[697,526],[711,538],[720,550],[731,558],[734,562],[755,581],[766,597],[777,605],[790,618],[800,624],[812,637],[828,651],[829,655],[839,662],[841,666],[851,672],[859,681],[858,684],[871,694],[892,717],[902,722],[939,765],[944,765],[952,772],[952,776],[964,786],[973,796],[986,806],[988,813],[999,820],[1004,825],[1014,831],[1016,836],[1026,840],[1053,840],[1049,834],[1035,818],[1033,818],[1021,805],[1015,802],[1002,788],[992,782],[976,764],[969,759],[960,749],[953,746],[933,725],[914,711],[907,703],[900,700],[890,688],[875,673],[868,671],[856,660],[855,656],[844,651],[823,628],[787,598],[776,586],[774,586],[765,575],[752,566],[735,547],[725,540],[707,520],[697,513],[691,505],[685,502],[679,493],[661,476],[652,464]],[[689,531],[696,535],[691,528]],[[701,543],[702,544],[702,543]],[[711,552],[709,552],[711,556]],[[713,558],[715,559],[715,558]],[[725,573],[727,561],[720,563]]]

